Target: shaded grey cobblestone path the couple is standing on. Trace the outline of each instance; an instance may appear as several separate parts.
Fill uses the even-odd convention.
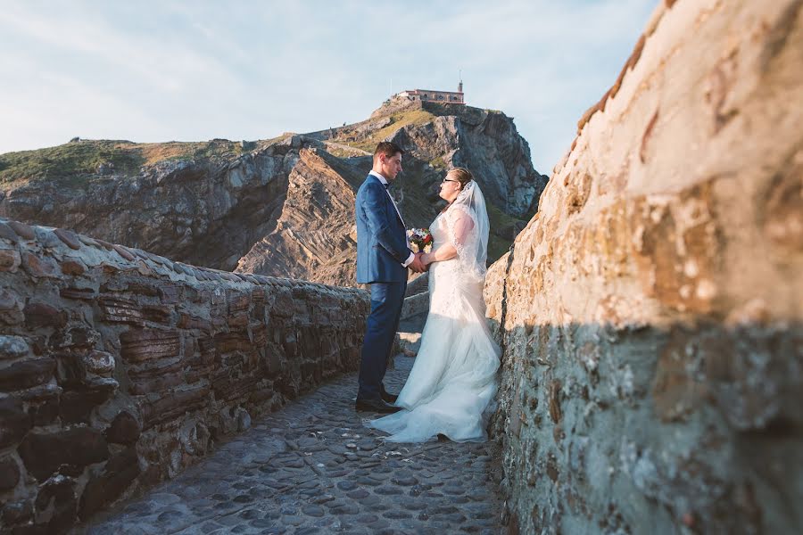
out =
[[[399,391],[413,359],[396,358]],[[76,532],[499,533],[493,444],[392,444],[356,413],[356,374],[327,383],[145,497]]]

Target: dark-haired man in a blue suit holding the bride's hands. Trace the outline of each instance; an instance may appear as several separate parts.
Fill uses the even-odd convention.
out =
[[[407,268],[426,270],[420,253],[410,251],[402,214],[387,186],[402,172],[402,149],[383,141],[374,151],[374,166],[357,192],[357,282],[371,285],[371,313],[360,354],[357,410],[393,413],[396,396],[385,391],[387,358],[399,328]]]

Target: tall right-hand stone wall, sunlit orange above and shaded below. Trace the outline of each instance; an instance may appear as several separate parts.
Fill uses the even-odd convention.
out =
[[[801,5],[659,5],[494,264],[511,531],[803,530]]]

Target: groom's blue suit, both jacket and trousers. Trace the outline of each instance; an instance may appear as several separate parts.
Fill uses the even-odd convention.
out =
[[[371,313],[360,354],[357,399],[379,399],[387,358],[402,316],[410,258],[407,231],[377,177],[368,175],[357,191],[357,282],[371,285]]]

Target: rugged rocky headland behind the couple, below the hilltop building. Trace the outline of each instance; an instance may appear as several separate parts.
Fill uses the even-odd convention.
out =
[[[442,206],[444,169],[475,172],[491,203],[493,259],[546,183],[502,113],[393,100],[354,125],[252,143],[76,139],[3,154],[0,215],[198,266],[354,285],[354,192],[383,139],[408,151],[393,194],[410,226],[428,226]]]

